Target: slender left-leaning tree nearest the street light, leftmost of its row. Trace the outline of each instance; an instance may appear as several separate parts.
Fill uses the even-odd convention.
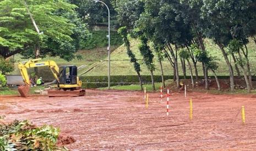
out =
[[[143,85],[142,85],[141,76],[140,76],[140,71],[141,71],[140,64],[138,63],[138,60],[136,59],[136,56],[134,55],[133,51],[130,50],[130,42],[129,42],[129,39],[128,39],[127,27],[120,27],[118,29],[118,33],[123,38],[124,46],[126,47],[126,50],[127,50],[127,55],[130,57],[130,62],[133,63],[133,67],[134,67],[135,71],[138,74],[138,78],[139,78],[139,82],[140,82],[140,88],[141,88],[141,91],[142,91],[143,90]]]

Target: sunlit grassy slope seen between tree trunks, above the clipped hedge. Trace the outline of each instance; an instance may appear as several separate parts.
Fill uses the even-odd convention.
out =
[[[142,59],[139,50],[138,50],[138,44],[139,41],[136,39],[131,39],[131,49],[133,53],[136,55],[137,59]],[[228,68],[226,66],[226,62],[222,56],[222,53],[220,49],[215,45],[211,40],[205,39],[205,45],[206,49],[210,52],[211,55],[216,56],[217,59],[219,59],[219,69],[217,71],[218,75],[228,75]],[[255,74],[255,68],[256,68],[256,61],[255,61],[255,50],[256,45],[254,43],[248,44],[249,49],[249,57],[250,57],[250,64],[252,66],[253,74]],[[139,60],[140,63],[142,63],[141,60]],[[160,67],[159,63],[157,62],[157,59],[154,59],[154,65],[156,67],[156,71],[154,72],[155,75],[160,75]],[[166,75],[172,75],[172,67],[170,63],[165,59],[163,62],[164,72]],[[235,69],[235,67],[234,67]],[[141,65],[141,75],[149,75],[148,69],[146,69],[145,65]],[[201,65],[198,63],[198,71],[199,75],[203,75]],[[179,74],[183,75],[181,65],[179,65]],[[236,74],[236,73],[235,73]],[[99,66],[92,69],[89,73],[85,75],[107,75],[107,62],[102,62]],[[136,72],[133,69],[132,63],[129,62],[129,57],[126,54],[126,49],[124,48],[124,45],[117,48],[112,54],[111,54],[111,75],[136,75]],[[187,75],[189,74],[189,69],[187,67]],[[209,72],[209,75],[212,75],[211,72]]]

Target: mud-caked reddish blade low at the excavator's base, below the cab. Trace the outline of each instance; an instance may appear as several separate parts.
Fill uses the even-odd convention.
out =
[[[49,97],[64,97],[64,96],[70,96],[70,97],[78,97],[78,96],[84,96],[85,90],[48,90],[48,96]]]

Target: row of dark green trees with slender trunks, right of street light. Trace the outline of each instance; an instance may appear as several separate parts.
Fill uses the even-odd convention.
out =
[[[205,47],[204,39],[210,38],[219,46],[229,68],[231,91],[234,90],[235,66],[238,76],[242,71],[248,92],[252,88],[252,73],[247,44],[249,38],[256,44],[255,8],[256,2],[252,0],[116,1],[117,16],[122,25],[140,31],[150,42],[160,45],[177,77],[177,88],[178,63],[186,75],[184,60],[190,60],[197,79],[197,62],[201,62],[205,88],[209,89],[208,70],[217,69],[215,58],[207,55],[211,50]],[[187,51],[180,54],[179,62],[178,52],[184,49]]]

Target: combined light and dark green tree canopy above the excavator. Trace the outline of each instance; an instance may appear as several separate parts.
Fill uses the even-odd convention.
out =
[[[24,1],[0,1],[0,55],[7,58],[17,53],[26,57],[41,54],[72,60],[79,40],[88,34],[74,11],[77,7],[63,0],[27,4],[43,34],[36,32]]]

